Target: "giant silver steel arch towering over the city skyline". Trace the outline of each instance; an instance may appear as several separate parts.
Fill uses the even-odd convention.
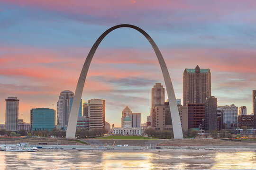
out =
[[[175,93],[174,93],[174,87],[171,81],[171,77],[169,75],[168,69],[165,64],[165,60],[158,49],[157,45],[153,41],[153,39],[141,28],[133,25],[128,25],[128,24],[122,24],[122,25],[117,25],[113,26],[107,31],[105,31],[101,36],[97,39],[97,41],[93,44],[91,47],[91,50],[83,64],[81,74],[79,76],[78,83],[76,85],[75,89],[75,94],[73,98],[73,103],[71,107],[71,112],[69,115],[69,121],[68,121],[68,127],[67,127],[67,133],[66,133],[66,138],[75,138],[75,132],[76,132],[76,124],[77,124],[77,118],[78,118],[78,112],[79,112],[79,106],[82,98],[82,91],[83,91],[83,86],[84,82],[88,73],[88,69],[91,64],[91,59],[97,50],[98,46],[100,45],[101,41],[105,38],[107,34],[109,34],[111,31],[121,28],[121,27],[128,27],[128,28],[133,28],[143,34],[147,41],[151,44],[153,50],[155,51],[156,57],[159,61],[164,80],[165,80],[165,88],[167,91],[168,95],[168,100],[169,100],[169,106],[170,106],[170,111],[171,111],[171,117],[172,117],[172,123],[173,123],[173,131],[174,131],[174,139],[183,139],[183,133],[182,133],[182,127],[181,127],[181,121],[180,121],[180,115],[176,103],[176,98],[175,98]]]

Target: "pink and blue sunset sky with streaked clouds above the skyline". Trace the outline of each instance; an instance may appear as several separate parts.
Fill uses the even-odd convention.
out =
[[[60,92],[75,91],[93,43],[119,24],[153,38],[177,99],[183,98],[184,69],[199,65],[210,68],[219,106],[245,105],[250,114],[255,7],[255,0],[0,0],[0,123],[8,96],[18,97],[19,118],[26,122],[32,108],[56,109]],[[127,105],[144,123],[155,83],[164,80],[152,47],[136,30],[119,28],[96,51],[82,99],[105,99],[106,121],[115,127]]]

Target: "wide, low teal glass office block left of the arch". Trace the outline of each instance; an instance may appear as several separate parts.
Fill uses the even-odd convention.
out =
[[[49,130],[55,128],[55,110],[36,108],[30,110],[31,130]]]

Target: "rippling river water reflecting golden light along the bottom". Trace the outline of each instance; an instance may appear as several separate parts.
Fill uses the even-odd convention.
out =
[[[0,152],[0,170],[256,169],[256,152],[78,151]]]

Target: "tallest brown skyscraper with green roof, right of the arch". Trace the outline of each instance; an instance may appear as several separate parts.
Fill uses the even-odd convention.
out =
[[[210,69],[186,68],[183,72],[183,106],[204,103],[211,96]]]

